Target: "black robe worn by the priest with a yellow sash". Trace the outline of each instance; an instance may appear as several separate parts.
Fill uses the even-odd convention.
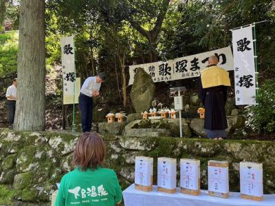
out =
[[[205,108],[204,128],[207,130],[224,130],[228,128],[225,113],[227,87],[222,85],[203,89],[200,78],[199,98]]]

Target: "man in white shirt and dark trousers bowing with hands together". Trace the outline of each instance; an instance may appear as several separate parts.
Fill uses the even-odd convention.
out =
[[[87,78],[80,89],[79,108],[83,133],[91,131],[93,98],[99,95],[101,83],[104,82],[105,79],[105,73],[100,72],[97,76]]]

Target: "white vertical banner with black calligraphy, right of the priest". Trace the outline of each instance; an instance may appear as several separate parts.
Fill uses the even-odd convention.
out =
[[[236,105],[256,104],[253,26],[232,30]]]

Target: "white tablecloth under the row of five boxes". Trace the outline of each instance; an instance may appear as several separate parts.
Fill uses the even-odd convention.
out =
[[[275,206],[275,194],[265,194],[263,201],[250,201],[241,198],[239,192],[230,192],[229,198],[217,198],[208,195],[207,190],[201,190],[199,196],[177,193],[166,194],[157,192],[154,186],[152,192],[135,190],[135,184],[123,191],[125,206]]]

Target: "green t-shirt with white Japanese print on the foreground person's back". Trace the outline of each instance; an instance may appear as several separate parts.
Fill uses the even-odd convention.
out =
[[[55,206],[113,206],[121,199],[121,187],[113,170],[76,168],[61,179]]]

